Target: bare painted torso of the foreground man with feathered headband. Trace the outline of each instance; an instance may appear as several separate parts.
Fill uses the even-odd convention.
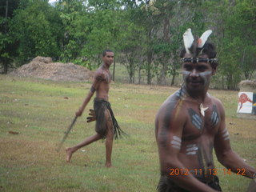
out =
[[[221,122],[219,104],[207,94],[200,109],[200,102],[189,97],[181,97],[179,91],[167,98],[166,104],[163,104],[158,113],[159,115],[170,115],[170,120],[173,118],[171,121],[175,121],[174,111],[178,111],[178,108],[178,114],[182,114],[182,145],[178,158],[186,166],[186,169],[179,171],[182,171],[183,174],[194,174],[197,178],[217,175],[212,152],[214,136],[218,132]],[[172,103],[171,106],[174,106],[174,110],[170,110],[170,114],[162,112],[168,111],[166,108],[170,106],[167,103]],[[161,126],[161,122],[159,126]]]

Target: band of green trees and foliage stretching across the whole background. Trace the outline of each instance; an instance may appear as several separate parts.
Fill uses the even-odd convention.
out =
[[[6,2],[0,2],[4,66],[40,55],[93,69],[107,48],[126,66],[130,82],[135,72],[140,79],[146,70],[148,84],[154,77],[166,84],[170,76],[174,85],[182,34],[191,28],[196,37],[214,31],[209,39],[219,58],[214,82],[223,81],[216,88],[237,89],[238,82],[255,74],[254,0],[59,0],[56,6],[47,0],[9,0],[7,17]]]

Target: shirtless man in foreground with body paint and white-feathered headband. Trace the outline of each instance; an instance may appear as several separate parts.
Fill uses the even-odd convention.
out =
[[[188,47],[184,42],[186,49],[180,55],[184,84],[166,99],[155,119],[161,192],[222,191],[213,149],[226,171],[242,171],[248,178],[255,177],[254,167],[230,147],[222,103],[207,93],[218,63],[213,44],[204,42],[200,47],[200,42],[202,39]]]

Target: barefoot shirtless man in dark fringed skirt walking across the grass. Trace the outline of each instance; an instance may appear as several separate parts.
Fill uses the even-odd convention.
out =
[[[90,88],[89,93],[82,102],[82,106],[75,113],[76,116],[81,116],[85,110],[90,98],[96,92],[94,98],[94,111],[91,111],[92,117],[89,121],[92,122],[96,118],[96,134],[86,138],[83,142],[76,146],[66,148],[66,162],[70,162],[72,154],[83,146],[87,146],[92,142],[96,142],[101,138],[106,138],[106,167],[111,167],[111,154],[113,139],[118,138],[123,132],[118,126],[118,122],[114,118],[113,111],[111,110],[110,102],[108,102],[111,74],[110,65],[114,62],[114,53],[112,50],[104,50],[102,53],[103,64],[96,70],[94,74],[94,82]],[[94,118],[95,116],[95,118]]]

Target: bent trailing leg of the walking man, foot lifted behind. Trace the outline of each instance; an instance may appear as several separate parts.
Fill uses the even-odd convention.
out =
[[[86,138],[86,140],[84,140],[83,142],[79,143],[76,146],[67,147],[66,148],[66,162],[70,162],[72,154],[74,154],[75,151],[77,151],[78,149],[80,149],[83,146],[89,145],[92,142],[98,141],[98,139],[100,139],[100,138],[102,138],[102,136],[100,134],[94,134],[94,135],[90,136],[89,138]]]

